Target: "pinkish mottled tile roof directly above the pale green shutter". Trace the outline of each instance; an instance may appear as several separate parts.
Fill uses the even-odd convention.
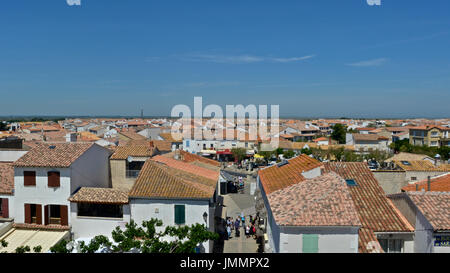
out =
[[[361,225],[346,182],[333,172],[274,191],[268,200],[278,225]]]

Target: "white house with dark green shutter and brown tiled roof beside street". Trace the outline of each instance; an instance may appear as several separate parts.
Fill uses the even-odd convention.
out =
[[[163,226],[203,224],[215,231],[214,215],[219,170],[203,168],[168,156],[147,160],[129,192],[131,218],[141,224],[157,218]],[[212,251],[212,241],[200,246]]]

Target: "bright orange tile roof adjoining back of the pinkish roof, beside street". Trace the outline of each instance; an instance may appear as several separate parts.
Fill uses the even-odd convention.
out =
[[[289,164],[284,166],[274,165],[258,172],[264,192],[267,195],[304,181],[305,177],[303,177],[302,171],[309,171],[322,166],[322,163],[305,154],[291,158],[288,162]]]

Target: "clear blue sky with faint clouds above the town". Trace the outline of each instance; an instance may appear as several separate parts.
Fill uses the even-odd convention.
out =
[[[5,1],[0,115],[449,117],[450,1]]]

